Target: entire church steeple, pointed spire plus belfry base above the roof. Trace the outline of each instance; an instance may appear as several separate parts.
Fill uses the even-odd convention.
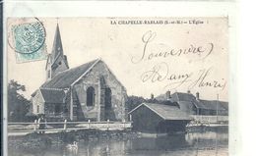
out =
[[[46,80],[55,77],[58,73],[68,70],[67,56],[63,53],[59,25],[56,26],[51,54],[46,62]]]

